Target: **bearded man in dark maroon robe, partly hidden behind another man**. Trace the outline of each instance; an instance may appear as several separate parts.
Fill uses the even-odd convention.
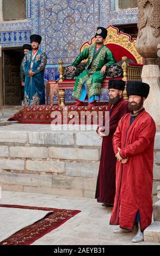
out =
[[[103,127],[100,125],[97,129],[97,133],[101,137],[104,136],[95,194],[97,202],[103,203],[102,206],[113,206],[114,204],[116,157],[112,143],[113,133],[115,132],[121,117],[128,112],[127,101],[122,97],[122,93],[125,89],[125,82],[122,80],[110,80],[108,89],[109,105],[107,110],[109,111],[109,134],[106,136],[103,133],[105,127],[104,120]]]

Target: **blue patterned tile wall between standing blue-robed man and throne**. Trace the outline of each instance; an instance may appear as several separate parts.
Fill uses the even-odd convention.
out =
[[[72,63],[83,42],[90,40],[100,25],[100,1],[39,0],[38,6],[41,47],[48,64],[57,64],[59,58]]]

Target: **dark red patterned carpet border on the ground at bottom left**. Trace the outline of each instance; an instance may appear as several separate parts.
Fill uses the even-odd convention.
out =
[[[0,242],[0,245],[30,245],[30,243],[33,243],[35,240],[44,236],[51,230],[58,228],[61,224],[69,220],[71,217],[81,212],[79,210],[65,210],[8,204],[0,204],[0,207],[53,211],[50,214],[47,214],[47,216],[45,216],[44,218],[42,218],[42,220],[21,229],[14,235],[8,237],[8,239],[3,240],[2,242]]]

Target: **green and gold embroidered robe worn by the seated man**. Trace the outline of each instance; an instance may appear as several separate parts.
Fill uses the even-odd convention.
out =
[[[77,66],[82,60],[88,58],[87,66],[83,72],[77,76],[73,88],[72,97],[79,100],[81,97],[83,83],[86,82],[89,97],[101,94],[102,80],[105,74],[101,74],[101,68],[115,63],[112,52],[103,45],[95,54],[96,45],[85,48],[73,62]]]

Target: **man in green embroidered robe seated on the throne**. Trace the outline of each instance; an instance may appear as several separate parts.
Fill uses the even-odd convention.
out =
[[[106,36],[107,29],[98,27],[95,34],[95,45],[85,48],[69,67],[70,71],[76,70],[76,66],[82,60],[88,59],[85,70],[77,76],[73,88],[72,97],[77,100],[75,106],[83,106],[83,101],[87,96],[88,106],[96,106],[96,101],[99,101],[106,69],[115,63],[112,52],[104,45]]]

